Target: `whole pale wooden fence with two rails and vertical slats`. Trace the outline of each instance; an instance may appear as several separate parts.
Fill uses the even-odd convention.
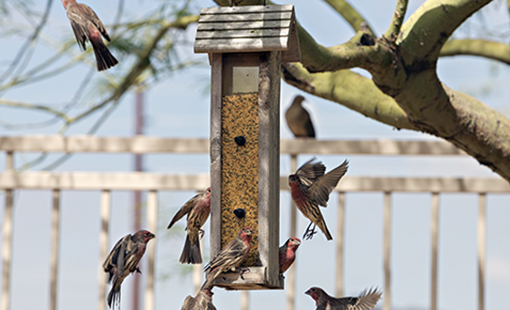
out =
[[[445,142],[430,141],[316,141],[316,140],[282,140],[282,154],[291,157],[291,170],[295,171],[298,154],[356,154],[356,155],[451,155],[466,156],[462,151]],[[52,248],[51,248],[51,283],[50,309],[56,309],[58,252],[60,228],[60,191],[61,190],[100,190],[101,196],[101,268],[102,260],[108,253],[108,225],[110,217],[111,191],[137,190],[148,191],[147,219],[148,227],[157,230],[157,193],[172,190],[202,190],[209,186],[208,175],[172,175],[146,172],[33,172],[14,171],[14,153],[17,152],[59,152],[59,153],[202,153],[209,152],[207,139],[166,139],[146,136],[132,138],[94,137],[94,136],[24,136],[0,137],[0,152],[6,152],[6,168],[0,173],[0,190],[5,191],[5,215],[2,226],[2,292],[0,310],[10,309],[10,266],[12,258],[13,229],[13,191],[16,189],[45,189],[53,191],[52,212]],[[280,179],[280,189],[289,190],[287,177]],[[439,194],[477,193],[479,195],[478,215],[478,309],[484,309],[485,290],[485,239],[487,193],[510,193],[508,182],[500,178],[398,178],[398,177],[345,177],[336,188],[339,194],[337,242],[336,294],[343,295],[343,242],[344,242],[344,197],[345,192],[384,192],[384,302],[383,309],[391,305],[391,269],[390,269],[390,235],[391,235],[391,198],[392,192],[428,192],[432,193],[432,274],[431,274],[431,309],[437,309],[437,245],[438,245],[438,208]],[[296,208],[291,208],[291,235],[296,235]],[[150,243],[148,249],[149,267],[145,290],[146,310],[154,309],[154,256],[156,243]],[[105,309],[106,283],[103,277],[98,280],[98,309]],[[294,309],[294,269],[287,275],[288,309]]]

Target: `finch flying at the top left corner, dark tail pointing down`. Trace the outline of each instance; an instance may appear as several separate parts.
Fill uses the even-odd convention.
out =
[[[85,41],[89,41],[96,55],[97,71],[103,71],[115,66],[119,62],[110,53],[103,42],[101,35],[110,41],[110,37],[99,20],[96,13],[87,5],[77,3],[75,0],[62,0],[67,12],[67,18],[71,22],[74,36],[78,45],[85,50]]]

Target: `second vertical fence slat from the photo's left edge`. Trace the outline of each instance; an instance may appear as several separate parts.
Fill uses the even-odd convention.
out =
[[[60,190],[53,191],[51,213],[50,310],[57,309],[58,254],[60,249]]]

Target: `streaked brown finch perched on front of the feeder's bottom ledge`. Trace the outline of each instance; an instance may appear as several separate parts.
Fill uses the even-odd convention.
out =
[[[237,237],[230,241],[218,254],[205,266],[205,282],[202,289],[209,289],[211,283],[221,273],[230,269],[235,269],[244,262],[250,253],[250,242],[253,230],[250,227],[244,227],[239,231]]]

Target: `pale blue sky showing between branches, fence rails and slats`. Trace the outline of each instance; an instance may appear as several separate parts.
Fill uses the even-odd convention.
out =
[[[358,0],[353,4],[369,20],[378,34],[385,31],[391,18],[395,1]],[[423,1],[410,1],[409,11],[413,12]],[[128,16],[140,15],[156,1],[126,1]],[[291,2],[281,2],[291,3]],[[89,0],[105,24],[113,21],[116,2]],[[353,32],[348,25],[329,10],[322,1],[296,0],[293,2],[297,18],[316,40],[324,45],[345,42]],[[459,31],[463,37],[487,23],[493,27],[509,28],[508,13],[496,1],[484,9],[483,15],[475,15],[468,26]],[[212,1],[199,1],[194,9],[214,6]],[[42,7],[41,4],[37,6]],[[408,14],[409,16],[409,14]],[[506,24],[505,24],[506,23]],[[65,11],[56,2],[51,10],[49,28],[45,36],[59,42],[71,36]],[[506,28],[505,28],[506,27]],[[332,31],[333,30],[333,31]],[[192,42],[195,27],[190,27],[186,38]],[[0,38],[0,41],[5,40]],[[508,39],[506,40],[508,41]],[[4,41],[5,42],[5,41]],[[11,40],[2,43],[0,68],[11,59],[22,41]],[[51,50],[40,49],[34,56],[33,64],[41,61]],[[78,46],[74,52],[79,53]],[[191,45],[183,48],[183,55],[189,59],[201,60],[204,66],[194,68],[161,81],[146,93],[146,134],[163,137],[202,137],[209,135],[209,96],[203,92],[207,87],[209,67],[205,55],[194,55]],[[92,57],[92,55],[89,55]],[[85,66],[77,67],[63,77],[16,88],[0,96],[23,101],[52,103],[62,107],[73,95],[80,78],[88,72]],[[362,70],[358,70],[362,72]],[[507,66],[474,57],[442,59],[438,65],[441,79],[450,87],[465,91],[505,115],[510,115],[510,70]],[[362,72],[362,74],[366,74]],[[282,83],[281,106],[283,111],[298,90]],[[301,93],[303,94],[303,93]],[[397,131],[379,124],[338,104],[303,94],[306,107],[311,111],[319,139],[435,139],[429,135],[406,130]],[[87,97],[83,106],[95,102],[97,97]],[[130,136],[133,132],[132,95],[126,96],[118,109],[97,132],[101,136]],[[97,120],[98,115],[86,119],[69,130],[69,134],[83,134]],[[0,120],[11,123],[34,122],[47,119],[46,115],[18,109],[0,108]],[[290,138],[285,123],[281,122],[281,137]],[[59,126],[40,130],[7,131],[0,128],[2,135],[51,134]],[[19,154],[17,164],[26,162],[35,154]],[[309,156],[301,156],[303,163]],[[321,156],[328,168],[340,164],[344,156]],[[350,176],[484,176],[497,177],[488,168],[480,166],[471,158],[452,157],[369,157],[350,156]],[[5,156],[0,154],[0,166]],[[152,172],[206,173],[209,171],[207,155],[150,155],[145,158],[145,169]],[[36,169],[42,166],[36,167]],[[130,171],[132,157],[128,154],[80,154],[60,166],[59,171]],[[287,157],[281,160],[282,175],[290,173]],[[16,194],[15,245],[12,273],[12,309],[46,309],[49,292],[49,227],[51,210],[49,191],[20,191]],[[156,235],[157,282],[156,308],[180,309],[186,295],[193,293],[190,276],[180,275],[182,269],[177,260],[183,243],[182,234],[168,233],[168,221],[178,207],[192,192],[160,193],[160,226]],[[281,231],[283,242],[288,238],[289,195],[281,194]],[[99,192],[64,192],[62,201],[62,239],[59,282],[59,308],[91,309],[97,299],[97,262],[99,258]],[[111,244],[131,232],[129,214],[131,194],[113,193],[111,222]],[[358,294],[370,286],[383,286],[382,269],[382,212],[381,193],[347,194],[346,228],[346,294]],[[336,195],[324,209],[330,230],[336,231]],[[0,197],[0,206],[3,206]],[[440,260],[439,260],[439,308],[476,309],[476,195],[441,196],[440,210]],[[486,309],[502,309],[510,302],[510,248],[506,236],[510,233],[510,211],[508,195],[488,196],[488,278]],[[395,309],[422,309],[429,305],[430,293],[430,194],[396,193],[393,198],[392,267],[393,305]],[[3,213],[0,213],[0,220]],[[298,215],[298,232],[308,222]],[[208,224],[206,225],[206,230]],[[208,235],[205,243],[207,248]],[[1,240],[0,240],[1,243]],[[311,286],[321,286],[334,292],[335,252],[332,242],[321,235],[313,241],[304,242],[297,259],[297,309],[313,309],[313,301],[302,294]],[[36,257],[36,259],[34,259]],[[143,267],[142,267],[143,269]],[[165,277],[163,277],[165,275]],[[163,279],[164,278],[164,279]],[[132,279],[123,285],[123,308],[130,309],[128,297]],[[239,300],[238,292],[216,289],[214,301],[218,309],[232,309]],[[30,298],[27,298],[30,296]],[[282,309],[285,294],[282,291],[254,292],[252,309],[262,307]]]

